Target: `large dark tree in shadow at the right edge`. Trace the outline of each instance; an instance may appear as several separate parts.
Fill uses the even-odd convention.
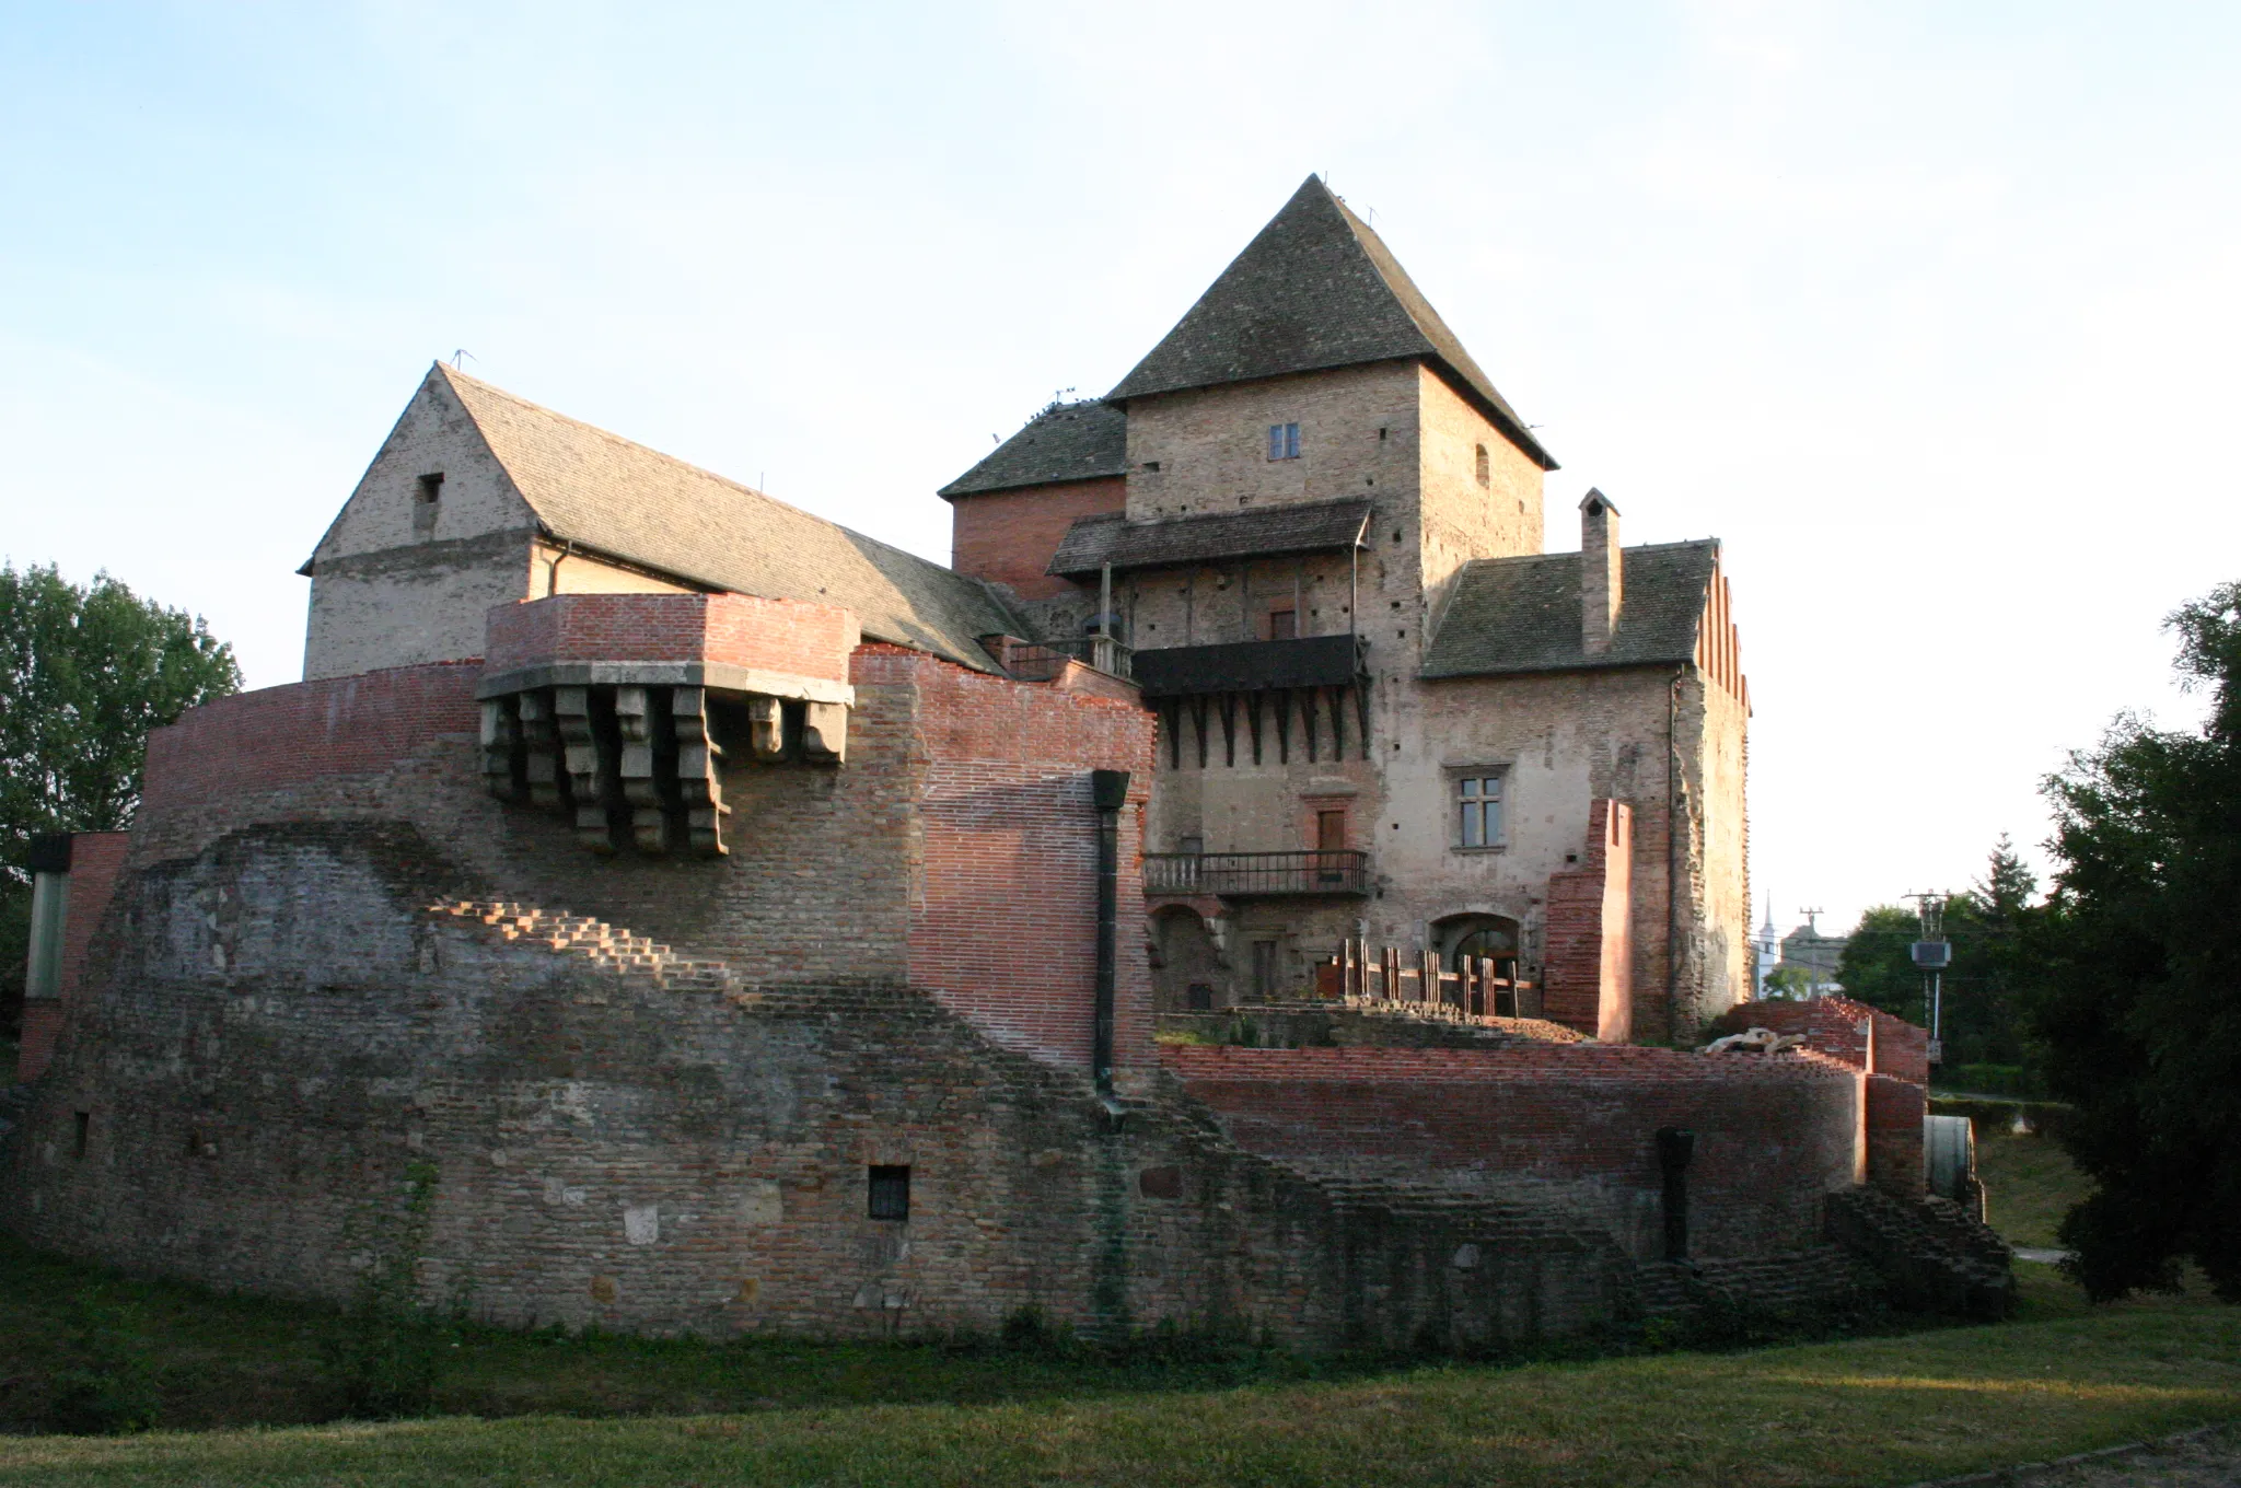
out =
[[[2086,1293],[2172,1289],[2194,1259],[2241,1302],[2241,585],[2167,625],[2210,717],[2118,719],[2046,782],[2059,867],[2028,1031],[2095,1183],[2062,1224]]]

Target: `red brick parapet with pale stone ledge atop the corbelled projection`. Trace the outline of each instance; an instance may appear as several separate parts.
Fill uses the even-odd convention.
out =
[[[491,607],[482,695],[661,681],[847,704],[849,654],[861,639],[856,614],[838,605],[753,594],[556,594]]]

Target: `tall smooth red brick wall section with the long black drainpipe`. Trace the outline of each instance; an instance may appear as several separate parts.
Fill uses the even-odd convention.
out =
[[[1129,771],[1120,813],[1114,1064],[1150,1071],[1143,961],[1143,802],[1152,715],[1138,706],[968,672],[865,645],[861,686],[910,679],[923,757],[910,984],[991,1038],[1087,1069],[1096,1008],[1096,809],[1089,771]]]

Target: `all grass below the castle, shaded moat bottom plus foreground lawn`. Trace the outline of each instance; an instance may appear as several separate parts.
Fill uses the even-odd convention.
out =
[[[0,1246],[0,1405],[90,1268]],[[1515,1367],[1277,1354],[471,1333],[446,1410],[392,1425],[0,1436],[4,1484],[1905,1484],[2241,1419],[2241,1309],[2086,1309],[2024,1273],[2003,1327]],[[320,1313],[121,1284],[170,1421],[287,1419]],[[547,1412],[489,1419],[498,1412]],[[648,1412],[616,1416],[614,1412]],[[601,1412],[587,1419],[562,1412]]]

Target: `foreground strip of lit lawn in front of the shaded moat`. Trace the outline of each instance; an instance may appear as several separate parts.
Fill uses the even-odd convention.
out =
[[[1903,1484],[2241,1416],[2241,1311],[991,1405],[0,1441],[9,1484]]]

